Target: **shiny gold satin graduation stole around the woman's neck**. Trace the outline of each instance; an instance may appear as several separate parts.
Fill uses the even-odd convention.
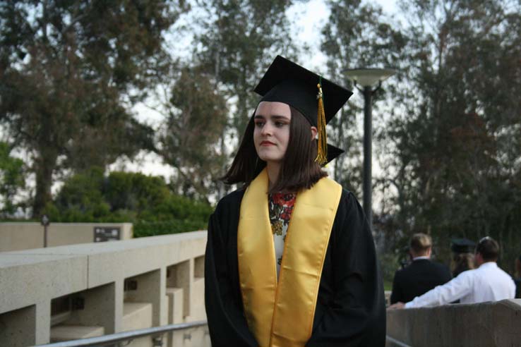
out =
[[[311,337],[325,252],[342,187],[322,178],[302,190],[289,221],[279,280],[264,169],[241,202],[237,255],[248,327],[260,347],[301,347]]]

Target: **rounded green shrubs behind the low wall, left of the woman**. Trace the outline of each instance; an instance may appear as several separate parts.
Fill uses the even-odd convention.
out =
[[[44,209],[55,222],[132,222],[134,236],[204,229],[209,204],[176,195],[163,178],[94,167],[71,176]]]

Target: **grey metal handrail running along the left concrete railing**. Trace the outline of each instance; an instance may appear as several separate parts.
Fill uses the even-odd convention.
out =
[[[106,346],[106,345],[109,345],[112,343],[118,343],[118,342],[124,342],[124,341],[128,341],[128,340],[137,339],[138,337],[159,335],[159,334],[164,334],[169,331],[201,327],[206,324],[208,324],[208,323],[205,320],[199,320],[197,322],[180,323],[180,324],[169,324],[169,325],[162,325],[161,327],[152,327],[152,328],[138,329],[138,330],[132,330],[132,331],[123,331],[123,332],[119,332],[116,334],[89,337],[88,339],[47,343],[46,345],[38,345],[37,347]]]

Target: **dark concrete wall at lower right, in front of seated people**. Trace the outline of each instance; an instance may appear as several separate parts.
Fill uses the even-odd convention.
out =
[[[388,310],[387,334],[414,347],[521,347],[521,299]]]

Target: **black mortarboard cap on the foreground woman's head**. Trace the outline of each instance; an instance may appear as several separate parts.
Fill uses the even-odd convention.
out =
[[[325,123],[329,123],[353,93],[282,56],[271,63],[254,91],[261,101],[289,104],[317,126],[318,83],[322,84]]]

